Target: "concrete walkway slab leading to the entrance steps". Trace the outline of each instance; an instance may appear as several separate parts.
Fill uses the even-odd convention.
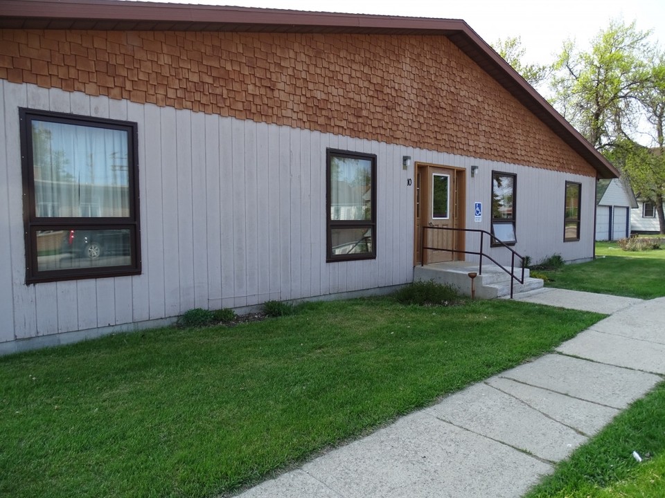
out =
[[[635,297],[568,291],[567,289],[553,287],[517,294],[514,299],[516,301],[547,304],[547,306],[558,306],[559,308],[595,311],[606,315],[617,313],[617,311],[642,302],[642,299],[636,299]]]

